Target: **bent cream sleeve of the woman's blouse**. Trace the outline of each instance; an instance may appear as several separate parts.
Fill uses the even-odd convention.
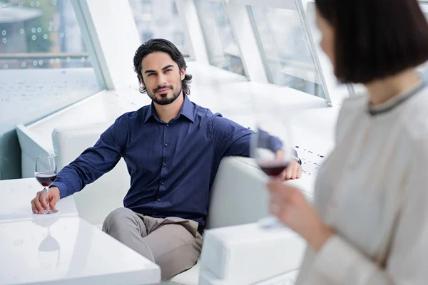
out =
[[[413,158],[401,189],[402,208],[386,268],[380,269],[350,242],[335,235],[324,244],[314,262],[315,271],[327,276],[331,284],[427,284],[428,128],[419,128],[418,132],[408,146]]]

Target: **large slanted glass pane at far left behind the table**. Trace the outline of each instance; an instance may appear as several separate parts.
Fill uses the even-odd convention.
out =
[[[0,0],[0,179],[21,175],[16,124],[102,89],[71,0]]]

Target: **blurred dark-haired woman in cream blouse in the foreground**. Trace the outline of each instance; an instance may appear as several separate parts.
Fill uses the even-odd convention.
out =
[[[282,182],[270,209],[307,240],[296,284],[428,284],[428,24],[417,0],[316,0],[345,100],[312,207]]]

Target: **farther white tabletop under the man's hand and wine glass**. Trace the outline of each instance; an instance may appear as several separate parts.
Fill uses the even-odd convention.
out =
[[[31,210],[31,199],[36,193],[43,190],[36,178],[25,178],[0,181],[0,222],[14,220],[28,220],[44,217],[44,214],[33,214]],[[78,216],[73,196],[60,199],[56,203],[58,213],[55,216]]]

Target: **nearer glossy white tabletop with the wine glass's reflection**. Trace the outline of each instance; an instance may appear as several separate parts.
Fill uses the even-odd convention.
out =
[[[0,285],[158,284],[161,269],[73,216],[0,223]]]

